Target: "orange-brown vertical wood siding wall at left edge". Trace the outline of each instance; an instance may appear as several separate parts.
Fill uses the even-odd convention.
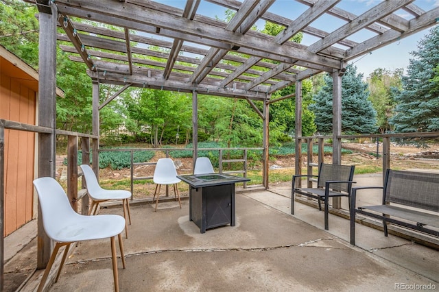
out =
[[[36,92],[1,71],[0,119],[35,125]],[[35,134],[5,130],[5,230],[19,229],[34,217]]]

